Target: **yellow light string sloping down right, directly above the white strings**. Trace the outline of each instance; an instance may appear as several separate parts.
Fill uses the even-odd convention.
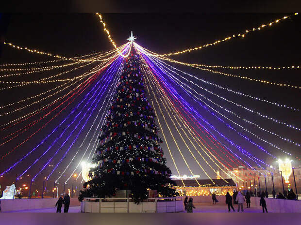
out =
[[[137,45],[137,44],[134,43],[134,45]],[[141,47],[141,46],[139,45],[139,47]],[[141,47],[141,48],[142,48],[142,47]],[[148,55],[152,55],[152,54],[148,53]],[[167,61],[170,61],[170,62],[174,62],[174,63],[186,65],[186,66],[191,66],[191,67],[197,68],[197,69],[199,69],[199,70],[209,71],[209,72],[211,72],[211,73],[215,73],[215,74],[218,74],[218,75],[224,75],[224,76],[229,76],[229,77],[235,77],[235,78],[245,79],[245,80],[248,80],[248,81],[260,82],[260,83],[262,83],[262,84],[276,85],[276,86],[284,87],[284,88],[287,87],[287,88],[298,88],[298,89],[301,89],[301,86],[297,86],[297,85],[286,84],[286,83],[276,83],[276,82],[273,82],[273,81],[267,81],[267,80],[264,80],[264,79],[251,78],[251,77],[248,77],[248,76],[246,76],[246,75],[233,75],[233,74],[227,74],[227,73],[223,73],[223,72],[220,72],[220,71],[210,70],[210,69],[207,69],[207,68],[200,68],[199,66],[193,66],[193,65],[190,64],[190,63],[180,62],[180,61],[177,61],[177,60],[168,59],[168,58],[165,58],[165,57],[161,57],[161,56],[159,56],[159,55],[153,55],[153,56],[158,57],[158,58],[160,58],[160,59],[162,59],[162,60],[167,60]]]

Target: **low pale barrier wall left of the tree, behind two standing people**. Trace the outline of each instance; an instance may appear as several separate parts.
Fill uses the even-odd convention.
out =
[[[35,210],[54,208],[58,198],[25,198],[1,200],[1,211]],[[80,206],[77,198],[70,198],[70,206]]]

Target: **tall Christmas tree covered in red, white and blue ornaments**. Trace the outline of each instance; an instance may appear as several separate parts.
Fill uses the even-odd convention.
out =
[[[79,200],[111,197],[117,190],[130,190],[136,203],[148,198],[148,189],[166,197],[176,195],[143,82],[139,57],[132,50],[91,160],[97,166],[90,170],[91,180],[84,183]]]

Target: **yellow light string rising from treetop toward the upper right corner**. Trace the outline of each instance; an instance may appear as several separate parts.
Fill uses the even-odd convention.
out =
[[[247,29],[241,33],[237,33],[237,34],[233,34],[231,36],[228,36],[222,40],[217,40],[215,42],[212,42],[212,43],[209,43],[209,44],[206,44],[206,45],[202,45],[202,46],[199,46],[199,47],[194,47],[194,48],[187,48],[185,50],[182,50],[182,51],[178,51],[178,52],[173,52],[173,53],[168,53],[168,54],[162,54],[162,55],[159,55],[159,56],[171,56],[171,55],[179,55],[179,54],[183,54],[183,53],[188,53],[188,52],[191,52],[191,51],[196,51],[196,50],[199,50],[199,49],[202,49],[202,48],[205,48],[205,47],[208,47],[208,46],[213,46],[213,45],[217,45],[219,43],[222,43],[222,42],[226,42],[226,41],[229,41],[230,39],[232,38],[237,38],[237,37],[241,37],[241,38],[244,38],[247,34],[255,31],[255,30],[262,30],[263,28],[265,27],[271,27],[272,25],[274,24],[277,24],[279,23],[280,21],[282,20],[285,20],[285,19],[288,19],[290,18],[291,16],[293,15],[298,15],[298,13],[295,13],[295,14],[292,14],[292,15],[287,15],[287,16],[284,16],[283,18],[279,18],[279,19],[276,19],[274,21],[271,21],[267,24],[263,24],[257,28],[251,28],[251,29]]]

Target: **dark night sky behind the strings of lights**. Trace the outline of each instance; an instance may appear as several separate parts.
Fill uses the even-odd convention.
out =
[[[253,27],[258,27],[263,23],[268,23],[277,18],[281,18],[288,14],[103,14],[107,28],[111,32],[111,36],[117,45],[124,44],[126,38],[130,35],[131,30],[134,36],[138,37],[136,43],[157,53],[169,53],[213,42],[217,39],[222,39],[239,31],[244,31]],[[2,14],[2,36],[1,39],[6,42],[15,43],[20,46],[36,48],[38,50],[51,52],[52,54],[63,55],[66,57],[74,57],[84,54],[89,54],[98,51],[104,51],[112,48],[108,41],[102,26],[95,14]],[[4,21],[4,22],[3,22]],[[233,39],[226,43],[208,47],[194,53],[184,54],[173,57],[173,59],[204,63],[209,65],[231,65],[231,66],[291,66],[301,65],[301,19],[300,15],[293,16],[292,19],[285,20],[272,28],[266,28],[261,31],[253,32],[246,35],[244,39]],[[26,51],[18,51],[8,46],[1,46],[0,64],[3,63],[18,63],[40,60],[52,60],[51,58],[40,55],[30,54]],[[268,85],[262,85],[256,82],[244,81],[238,78],[224,77],[211,74],[197,69],[191,69],[186,66],[172,64],[177,68],[197,75],[208,81],[217,83],[221,86],[231,88],[233,90],[242,91],[253,96],[263,97],[270,101],[277,101],[282,104],[292,105],[301,109],[300,90],[292,90],[285,88],[276,88]],[[58,70],[59,71],[59,70]],[[250,77],[265,78],[269,81],[286,82],[301,86],[300,70],[283,70],[283,71],[266,71],[266,70],[222,70],[225,73],[248,75]],[[1,74],[4,74],[3,72]],[[48,73],[40,73],[28,76],[28,80],[36,79],[49,75]],[[68,74],[67,76],[74,76]],[[201,85],[201,83],[200,83]],[[202,84],[203,85],[203,84]],[[1,85],[3,87],[3,85]],[[210,86],[204,86],[211,88]],[[46,85],[36,85],[34,88],[15,89],[13,91],[2,91],[1,96],[6,96],[2,99],[4,105],[7,102],[16,101],[23,96],[31,96],[33,93],[38,93],[46,88]],[[246,105],[257,111],[272,116],[275,119],[283,120],[289,124],[294,124],[301,127],[300,112],[292,112],[284,108],[277,108],[271,105],[265,105],[256,101],[250,101],[247,98],[237,97],[228,92],[212,89],[216,93],[236,101],[239,104]],[[201,93],[203,91],[200,90]],[[283,125],[275,124],[268,120],[262,119],[254,114],[247,113],[244,110],[237,108],[234,105],[226,104],[224,101],[218,100],[216,97],[208,96],[217,101],[220,105],[232,109],[236,113],[240,113],[252,121],[260,124],[271,131],[275,131],[285,137],[291,138],[298,143],[301,143],[300,132],[288,129]],[[198,112],[206,117],[212,124],[219,128],[220,131],[226,133],[237,144],[253,152],[257,157],[270,164],[276,165],[275,160],[266,157],[261,151],[253,145],[246,143],[237,138],[233,132],[229,132],[224,125],[220,125],[214,117],[211,117],[205,110],[201,109],[193,100],[188,99]],[[40,105],[42,106],[42,105]],[[156,106],[155,106],[156,107]],[[13,116],[1,118],[1,124],[6,121],[22,116],[26,110],[16,113]],[[5,112],[1,110],[1,112]],[[26,111],[27,112],[27,111]],[[229,113],[224,113],[229,116]],[[65,114],[66,116],[66,114]],[[297,148],[292,144],[281,141],[278,138],[267,135],[251,125],[243,123],[236,118],[229,116],[233,120],[243,124],[247,129],[264,137],[272,143],[279,145],[281,148],[293,153],[293,157],[300,156],[300,147]],[[60,116],[56,121],[63,119]],[[91,117],[93,120],[94,118]],[[55,122],[49,125],[45,130],[40,132],[36,138],[29,141],[24,148],[19,149],[16,153],[7,157],[4,164],[0,165],[0,171],[11,165],[16,158],[26,152],[26,150],[34,145],[37,140],[45,136],[47,131],[56,125]],[[89,126],[87,126],[87,129]],[[236,127],[235,127],[236,128]],[[163,128],[165,130],[165,127]],[[237,129],[241,131],[240,129]],[[167,131],[166,131],[167,132]],[[84,132],[83,132],[84,133]],[[30,134],[30,133],[28,133]],[[251,137],[251,135],[248,135]],[[25,137],[25,135],[24,135]],[[161,135],[162,137],[162,135]],[[83,137],[82,137],[83,138]],[[170,142],[171,142],[171,137]],[[219,137],[219,139],[222,139]],[[19,139],[20,141],[21,139]],[[277,157],[284,157],[278,150],[252,137],[252,140],[259,143],[261,146],[271,151]],[[17,141],[13,144],[16,145]],[[174,144],[170,144],[175,149]],[[191,166],[195,174],[200,174],[204,178],[200,168],[194,165],[193,159],[185,150],[183,143],[179,145],[184,150],[187,159],[191,162]],[[1,147],[0,152],[6,152],[7,148]],[[165,154],[168,160],[167,165],[174,171],[174,166],[171,163],[170,156],[167,153],[165,144],[163,144]],[[176,154],[179,160],[179,165],[183,174],[189,174],[183,160],[180,160],[180,155]],[[37,157],[37,155],[34,155]],[[32,160],[34,159],[34,156]],[[72,156],[68,156],[72,157]],[[67,157],[67,158],[68,158]],[[30,163],[30,160],[20,165],[17,169],[8,173],[11,178],[15,178],[17,173],[21,172],[25,166]],[[294,164],[296,160],[294,160]],[[207,167],[206,167],[207,168]],[[38,167],[32,171],[35,173]],[[211,174],[214,176],[213,174]],[[14,179],[13,179],[14,180]]]

